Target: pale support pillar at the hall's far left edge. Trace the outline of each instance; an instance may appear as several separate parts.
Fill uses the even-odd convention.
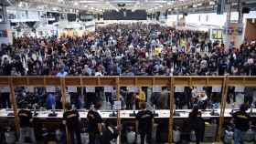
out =
[[[6,0],[0,1],[0,45],[13,43],[13,36],[10,22],[7,17],[6,5]]]

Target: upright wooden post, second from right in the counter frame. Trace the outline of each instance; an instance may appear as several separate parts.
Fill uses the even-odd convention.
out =
[[[169,118],[169,135],[168,135],[168,143],[172,144],[173,143],[173,115],[174,115],[174,77],[171,77],[170,79],[170,91],[169,91],[169,96],[170,96],[170,118]]]

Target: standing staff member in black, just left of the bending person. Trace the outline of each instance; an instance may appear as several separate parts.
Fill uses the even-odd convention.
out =
[[[87,114],[89,144],[101,143],[102,136],[102,118],[98,110],[101,108],[101,102],[97,102],[94,109],[89,110]]]

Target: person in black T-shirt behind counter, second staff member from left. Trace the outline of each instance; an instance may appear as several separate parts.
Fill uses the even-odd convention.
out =
[[[65,106],[68,110],[63,114],[63,124],[66,125],[69,131],[69,142],[75,144],[75,135],[77,138],[77,144],[81,144],[80,138],[80,114],[77,110],[71,109],[69,103]]]

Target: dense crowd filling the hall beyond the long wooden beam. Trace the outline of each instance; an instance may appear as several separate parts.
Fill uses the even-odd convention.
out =
[[[256,75],[255,42],[226,47],[205,32],[134,23],[82,37],[19,37],[0,48],[2,76]]]

